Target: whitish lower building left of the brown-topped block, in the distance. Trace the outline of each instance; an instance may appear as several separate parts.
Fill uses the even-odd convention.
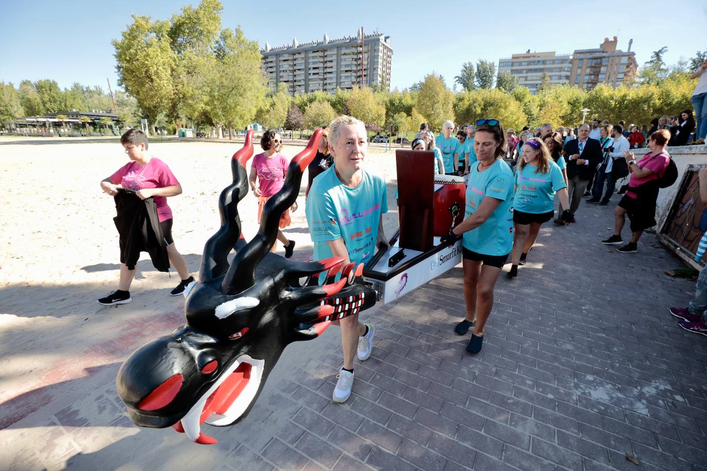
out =
[[[543,80],[548,85],[569,83],[570,59],[570,54],[528,50],[525,54],[498,59],[498,71],[513,73],[518,77],[518,85],[527,87],[530,93],[535,94]]]

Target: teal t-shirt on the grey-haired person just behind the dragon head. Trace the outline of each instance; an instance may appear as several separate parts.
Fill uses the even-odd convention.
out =
[[[314,243],[314,259],[332,256],[327,241],[344,239],[352,262],[366,263],[375,252],[378,221],[387,213],[385,180],[363,171],[356,188],[341,183],[334,167],[312,181],[305,214]]]

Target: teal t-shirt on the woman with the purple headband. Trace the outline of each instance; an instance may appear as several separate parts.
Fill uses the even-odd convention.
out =
[[[525,164],[515,172],[515,201],[513,209],[523,213],[543,214],[554,210],[555,193],[566,188],[562,171],[555,162],[548,162],[550,171],[535,173],[536,166]]]

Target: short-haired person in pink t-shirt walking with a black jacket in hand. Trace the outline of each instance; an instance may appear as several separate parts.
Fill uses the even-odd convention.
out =
[[[189,275],[187,261],[177,251],[172,239],[172,210],[167,204],[167,197],[181,194],[182,186],[165,162],[148,154],[147,136],[144,132],[139,129],[129,129],[120,136],[120,143],[125,148],[125,153],[128,155],[130,162],[117,169],[107,179],[101,181],[100,188],[110,196],[115,196],[118,193],[118,189],[130,189],[134,190],[136,196],[140,199],[153,198],[157,207],[160,229],[162,229],[167,243],[167,254],[170,263],[177,270],[182,280],[170,292],[172,296],[177,296],[184,292],[190,282],[194,281],[194,277]],[[134,269],[130,270],[125,263],[120,263],[118,290],[98,299],[98,303],[103,304],[103,306],[112,306],[113,304],[131,302],[132,298],[129,290],[134,276]]]

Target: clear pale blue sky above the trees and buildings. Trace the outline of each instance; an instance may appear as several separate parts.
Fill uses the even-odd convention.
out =
[[[115,2],[3,2],[0,18],[0,81],[17,85],[28,78],[51,78],[59,85],[117,88],[110,41],[119,38],[130,15],[166,19],[187,0],[119,0]],[[261,47],[355,35],[363,26],[390,35],[393,47],[392,88],[405,88],[431,71],[452,85],[466,61],[493,60],[513,53],[598,47],[604,37],[629,39],[638,64],[668,47],[668,64],[707,49],[707,2],[703,0],[529,3],[430,1],[259,2],[225,1],[222,27],[240,25]],[[192,1],[196,6],[198,1]],[[446,8],[440,6],[446,5]],[[558,6],[561,5],[561,6]],[[629,6],[630,5],[630,6]],[[611,9],[613,8],[613,10]],[[677,13],[677,14],[674,14]]]

